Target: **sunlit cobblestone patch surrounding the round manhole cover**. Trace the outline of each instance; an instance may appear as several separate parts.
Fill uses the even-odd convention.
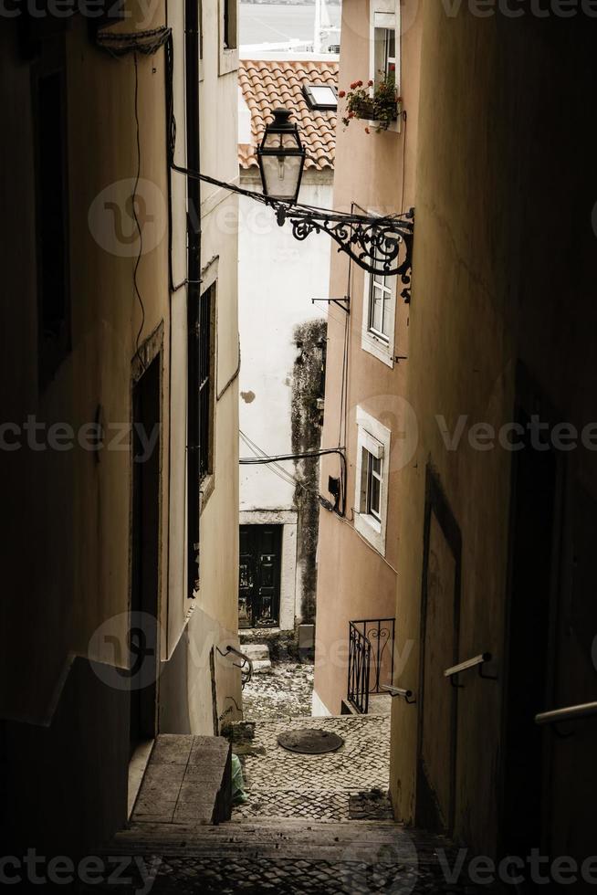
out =
[[[233,734],[233,751],[243,763],[248,801],[235,808],[233,819],[267,816],[349,820],[351,798],[354,804],[354,796],[371,790],[382,793],[383,804],[377,808],[389,805],[385,795],[390,778],[389,718],[347,715],[259,721],[250,740],[246,739],[246,728],[246,724],[237,728],[238,745]],[[291,753],[278,745],[280,733],[300,728],[337,733],[344,745],[337,752],[323,755]],[[362,806],[359,816],[363,816]],[[384,815],[376,812],[374,816]]]

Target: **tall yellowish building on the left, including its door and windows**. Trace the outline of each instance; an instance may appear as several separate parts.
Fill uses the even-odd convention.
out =
[[[186,173],[237,176],[237,16],[39,6],[1,37],[3,819],[77,849],[140,744],[240,707],[236,200]]]

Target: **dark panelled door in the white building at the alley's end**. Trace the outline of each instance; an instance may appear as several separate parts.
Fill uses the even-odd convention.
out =
[[[282,525],[241,525],[238,627],[278,627]]]

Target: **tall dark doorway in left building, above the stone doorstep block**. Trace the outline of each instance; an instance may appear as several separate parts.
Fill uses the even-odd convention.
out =
[[[161,357],[147,366],[132,395],[131,755],[157,730]]]

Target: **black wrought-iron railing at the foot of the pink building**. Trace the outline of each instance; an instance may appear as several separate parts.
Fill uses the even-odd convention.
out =
[[[349,622],[348,699],[360,714],[369,711],[370,695],[392,683],[393,639],[393,618]]]

